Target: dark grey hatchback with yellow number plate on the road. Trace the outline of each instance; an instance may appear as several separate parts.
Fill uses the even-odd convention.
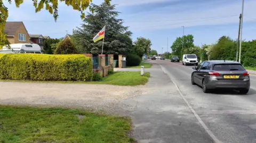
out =
[[[205,93],[215,88],[229,88],[247,94],[250,89],[249,73],[236,61],[204,61],[193,69],[191,83],[202,86]]]

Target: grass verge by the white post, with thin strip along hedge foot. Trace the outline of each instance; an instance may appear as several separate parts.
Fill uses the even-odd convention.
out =
[[[34,83],[82,83],[82,84],[103,84],[116,86],[138,86],[145,85],[150,77],[149,72],[144,76],[140,72],[114,72],[101,81],[31,81],[31,80],[0,80],[2,82],[34,82]]]

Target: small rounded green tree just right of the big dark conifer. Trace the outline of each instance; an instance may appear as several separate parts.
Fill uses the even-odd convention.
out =
[[[142,57],[143,54],[148,54],[151,50],[151,40],[144,37],[138,37],[134,42],[133,52]]]

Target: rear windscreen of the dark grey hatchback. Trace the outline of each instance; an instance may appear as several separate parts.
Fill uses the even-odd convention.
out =
[[[244,71],[245,69],[241,64],[215,64],[214,71]]]

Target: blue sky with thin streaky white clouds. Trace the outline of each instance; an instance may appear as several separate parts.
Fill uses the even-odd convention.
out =
[[[103,0],[93,0],[100,4]],[[48,35],[61,38],[82,23],[80,12],[59,5],[59,18],[46,10],[35,13],[31,0],[26,0],[19,8],[15,4],[4,3],[9,9],[7,21],[23,21],[30,34]],[[169,51],[173,41],[183,35],[194,36],[194,44],[213,44],[221,36],[238,37],[239,14],[242,0],[112,0],[117,4],[119,18],[133,32],[132,39],[145,37],[153,44],[151,49],[158,53]],[[256,39],[256,1],[245,0],[243,18],[243,39]],[[107,32],[107,31],[106,31]]]

